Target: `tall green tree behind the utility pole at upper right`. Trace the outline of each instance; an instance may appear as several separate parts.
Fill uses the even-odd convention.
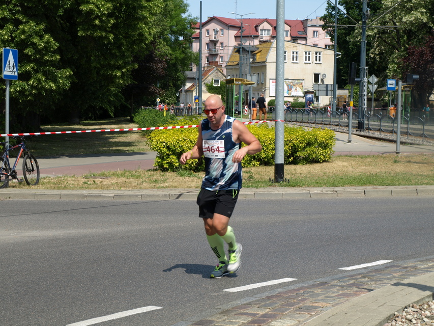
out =
[[[339,87],[348,83],[351,62],[360,63],[361,0],[340,0],[338,11],[337,80]],[[369,74],[375,74],[385,85],[387,78],[401,78],[400,59],[407,55],[407,48],[416,45],[430,35],[434,24],[432,0],[381,0],[368,2],[369,16],[366,35],[366,65]],[[333,35],[334,6],[330,3],[322,17],[324,29]],[[343,26],[340,26],[343,25]],[[351,26],[353,25],[353,26]],[[356,25],[356,26],[354,26]]]

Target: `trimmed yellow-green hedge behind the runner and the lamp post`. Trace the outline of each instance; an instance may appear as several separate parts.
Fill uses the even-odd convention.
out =
[[[188,121],[191,124],[191,121]],[[197,121],[197,124],[199,122]],[[179,125],[185,125],[180,121]],[[247,128],[262,144],[262,151],[246,155],[243,167],[274,165],[275,129],[267,124],[248,125]],[[197,140],[197,128],[155,130],[148,138],[151,149],[158,153],[155,166],[161,171],[179,169],[179,158],[189,151]],[[328,129],[305,130],[301,127],[284,128],[284,163],[309,164],[330,160],[335,145],[335,133]],[[244,145],[245,146],[245,145]],[[203,159],[191,159],[184,166],[191,171],[204,171]]]

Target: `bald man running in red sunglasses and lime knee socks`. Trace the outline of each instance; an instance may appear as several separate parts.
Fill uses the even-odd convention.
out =
[[[225,115],[224,110],[219,96],[211,95],[206,99],[204,113],[207,118],[198,127],[196,144],[180,158],[184,165],[189,159],[205,156],[205,177],[197,205],[208,243],[219,261],[211,278],[235,273],[240,268],[242,246],[236,241],[229,219],[242,185],[241,161],[247,154],[262,150],[261,143],[249,129],[239,120]],[[241,143],[247,146],[241,147]],[[228,256],[224,242],[228,244]]]

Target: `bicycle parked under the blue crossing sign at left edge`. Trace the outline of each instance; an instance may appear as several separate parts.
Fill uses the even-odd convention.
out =
[[[25,137],[14,137],[17,141],[19,141],[19,144],[6,148],[7,142],[0,142],[3,146],[5,146],[5,150],[3,152],[2,157],[0,157],[0,188],[7,188],[9,186],[9,178],[12,178],[14,180],[18,180],[18,182],[23,182],[25,180],[25,183],[28,185],[37,185],[39,182],[39,164],[36,160],[35,156],[31,154],[27,148],[25,148]],[[19,153],[17,157],[15,158],[14,165],[12,166],[9,164],[9,152],[13,149],[19,148]],[[24,157],[24,160],[22,162],[22,174],[24,177],[23,179],[18,179],[18,173],[16,171],[18,161],[22,157]]]

